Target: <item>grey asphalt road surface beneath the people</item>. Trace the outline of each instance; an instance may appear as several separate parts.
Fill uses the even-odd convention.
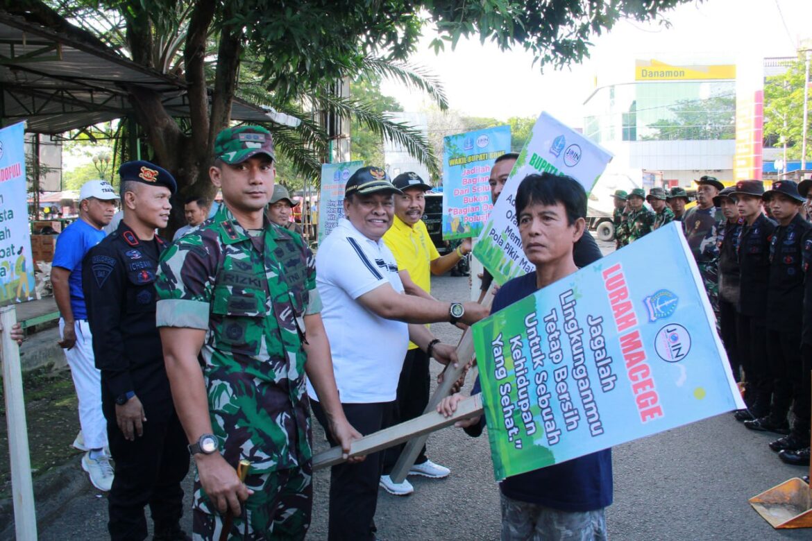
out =
[[[433,287],[439,298],[463,298],[467,280],[435,278]],[[432,329],[443,341],[460,336],[448,324]],[[326,447],[320,430],[315,440],[317,450]],[[783,465],[767,448],[770,440],[724,414],[615,448],[615,503],[607,511],[610,537],[810,539],[810,530],[772,530],[747,504],[750,496],[804,474],[804,468]],[[498,539],[499,492],[486,437],[472,439],[448,428],[435,433],[428,448],[435,462],[451,468],[451,476],[410,478],[415,493],[408,497],[380,492],[376,522],[381,539]],[[309,539],[326,539],[329,472],[318,472],[314,487]],[[41,529],[41,539],[106,539],[105,523],[106,500],[86,491],[65,502],[62,513]]]

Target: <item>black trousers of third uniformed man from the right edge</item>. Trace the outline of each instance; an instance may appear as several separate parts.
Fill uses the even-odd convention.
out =
[[[754,414],[766,415],[772,397],[772,379],[767,355],[764,320],[739,314],[739,359],[747,382],[747,406]]]

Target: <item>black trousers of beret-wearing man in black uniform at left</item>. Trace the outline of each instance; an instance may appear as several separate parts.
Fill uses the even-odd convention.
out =
[[[145,411],[144,435],[127,441],[115,423],[114,405],[104,404],[107,440],[115,477],[107,497],[114,541],[141,541],[147,537],[145,505],[152,512],[155,530],[177,524],[184,513],[184,490],[189,471],[189,450],[177,414]]]

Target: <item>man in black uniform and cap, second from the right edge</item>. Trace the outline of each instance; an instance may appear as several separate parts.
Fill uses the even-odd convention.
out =
[[[746,421],[745,427],[780,434],[789,432],[787,414],[793,401],[793,385],[801,373],[801,316],[804,275],[801,239],[812,225],[798,212],[804,198],[792,180],[772,183],[763,198],[778,221],[770,243],[770,281],[767,285],[767,350],[770,352],[772,404],[770,413]],[[771,444],[780,450],[787,441]],[[778,449],[775,449],[775,448]]]

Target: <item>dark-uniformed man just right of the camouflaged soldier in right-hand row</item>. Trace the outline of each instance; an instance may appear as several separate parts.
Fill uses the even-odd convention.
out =
[[[739,304],[739,261],[736,259],[736,245],[739,242],[739,231],[744,221],[739,216],[736,199],[728,187],[713,198],[715,207],[721,208],[725,217],[719,226],[719,334],[722,337],[724,350],[736,381],[741,381],[741,360],[739,359],[738,335],[736,325]]]

